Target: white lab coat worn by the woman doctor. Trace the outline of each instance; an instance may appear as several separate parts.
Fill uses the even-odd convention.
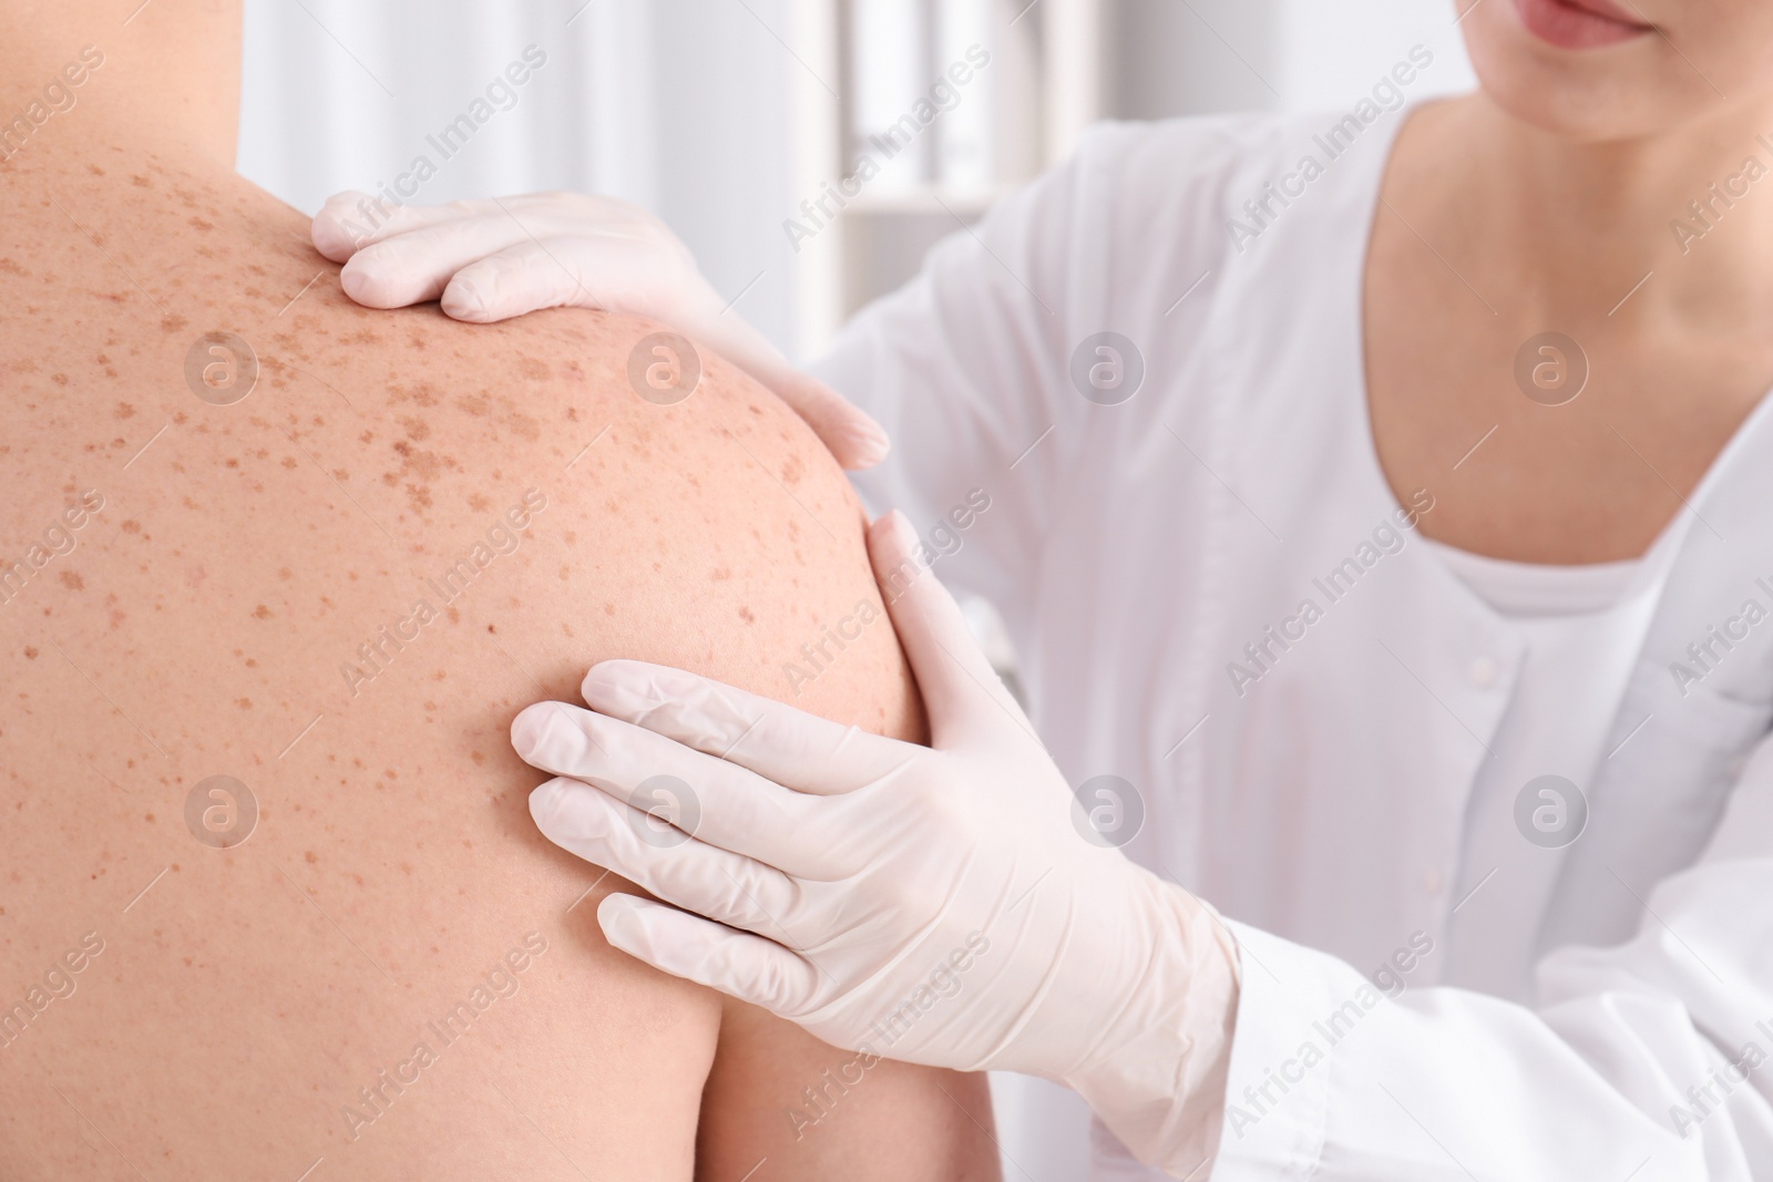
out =
[[[1308,184],[1285,177],[1307,152],[1326,163],[1312,135],[1333,119],[1094,131],[819,367],[895,441],[858,486],[950,551],[950,587],[1002,608],[1071,782],[1135,785],[1147,815],[1128,852],[1234,921],[1215,1178],[1773,1178],[1773,1061],[1757,1067],[1773,1056],[1773,620],[1730,626],[1746,631],[1732,649],[1707,633],[1745,601],[1773,608],[1773,415],[1670,526],[1677,558],[1582,785],[1587,829],[1530,851],[1543,891],[1484,881],[1521,851],[1470,815],[1480,762],[1502,725],[1555,739],[1558,723],[1507,718],[1521,638],[1415,533],[1362,548],[1401,509],[1360,333],[1397,121]],[[1269,198],[1259,223],[1245,202],[1269,183],[1303,195]],[[1243,250],[1230,218],[1259,230]],[[1117,406],[1069,374],[1103,330],[1144,358]],[[956,512],[973,489],[989,509]],[[1303,599],[1326,604],[1314,579],[1346,558],[1351,590],[1287,626]],[[1245,645],[1268,626],[1303,636],[1255,666]],[[1700,672],[1695,642],[1716,659],[1681,684],[1670,666]],[[1232,663],[1262,675],[1239,693]],[[1491,900],[1527,937],[1459,945],[1454,909]],[[1525,959],[1484,975],[1530,982],[1519,996],[1449,971],[1498,957]],[[1367,980],[1386,962],[1395,999]],[[1097,1141],[1096,1177],[1156,1177]]]

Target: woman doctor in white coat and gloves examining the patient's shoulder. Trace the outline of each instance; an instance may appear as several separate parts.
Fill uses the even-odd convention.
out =
[[[514,725],[676,904],[612,943],[1069,1083],[1099,1178],[1773,1178],[1773,0],[1461,7],[1480,92],[1105,126],[823,381],[615,202],[328,206],[365,303],[647,314],[897,441],[931,748],[626,661]]]

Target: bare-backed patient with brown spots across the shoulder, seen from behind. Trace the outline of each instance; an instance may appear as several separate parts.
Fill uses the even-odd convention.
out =
[[[505,737],[615,656],[917,735],[885,626],[782,673],[878,594],[835,464],[647,324],[362,312],[238,5],[138,2],[0,0],[0,1178],[995,1177],[980,1077],[610,950]]]

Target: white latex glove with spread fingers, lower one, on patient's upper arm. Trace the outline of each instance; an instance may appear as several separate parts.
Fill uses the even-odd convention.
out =
[[[1230,936],[1085,840],[1064,776],[915,546],[901,514],[869,530],[931,748],[606,661],[585,679],[590,711],[544,702],[512,723],[525,760],[569,776],[535,789],[530,813],[676,904],[606,897],[598,921],[617,948],[839,1047],[1058,1079],[1142,1159],[1195,1171],[1218,1143]]]

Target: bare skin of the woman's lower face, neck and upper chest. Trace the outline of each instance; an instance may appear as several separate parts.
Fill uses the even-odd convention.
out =
[[[1711,229],[1691,202],[1773,168],[1773,4],[1624,5],[1658,32],[1537,39],[1514,0],[1461,0],[1482,90],[1404,126],[1365,276],[1369,408],[1422,530],[1496,558],[1642,555],[1773,386],[1773,186]],[[1574,338],[1587,388],[1528,399],[1516,353]],[[1493,432],[1493,434],[1491,434]]]

